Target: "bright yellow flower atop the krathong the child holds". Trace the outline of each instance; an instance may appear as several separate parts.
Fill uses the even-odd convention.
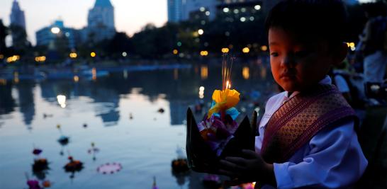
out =
[[[218,113],[220,111],[228,110],[229,108],[234,107],[239,103],[239,95],[240,93],[235,89],[225,89],[224,91],[215,90],[213,91],[213,101],[215,101],[215,105],[213,108],[208,110],[208,118],[213,115],[213,113]]]

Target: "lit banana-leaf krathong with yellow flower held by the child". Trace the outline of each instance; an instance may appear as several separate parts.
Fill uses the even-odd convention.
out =
[[[245,116],[238,126],[236,120],[240,113],[235,105],[240,101],[240,93],[231,89],[233,62],[234,58],[229,61],[223,55],[222,90],[213,92],[211,109],[203,120],[196,124],[191,109],[187,111],[186,154],[188,165],[194,171],[216,173],[220,159],[240,156],[242,149],[254,150],[257,113],[253,113],[252,124]]]

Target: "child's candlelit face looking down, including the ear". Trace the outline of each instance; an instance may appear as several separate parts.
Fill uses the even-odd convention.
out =
[[[334,61],[327,42],[300,42],[281,28],[269,29],[270,65],[285,91],[303,91],[324,79]]]

